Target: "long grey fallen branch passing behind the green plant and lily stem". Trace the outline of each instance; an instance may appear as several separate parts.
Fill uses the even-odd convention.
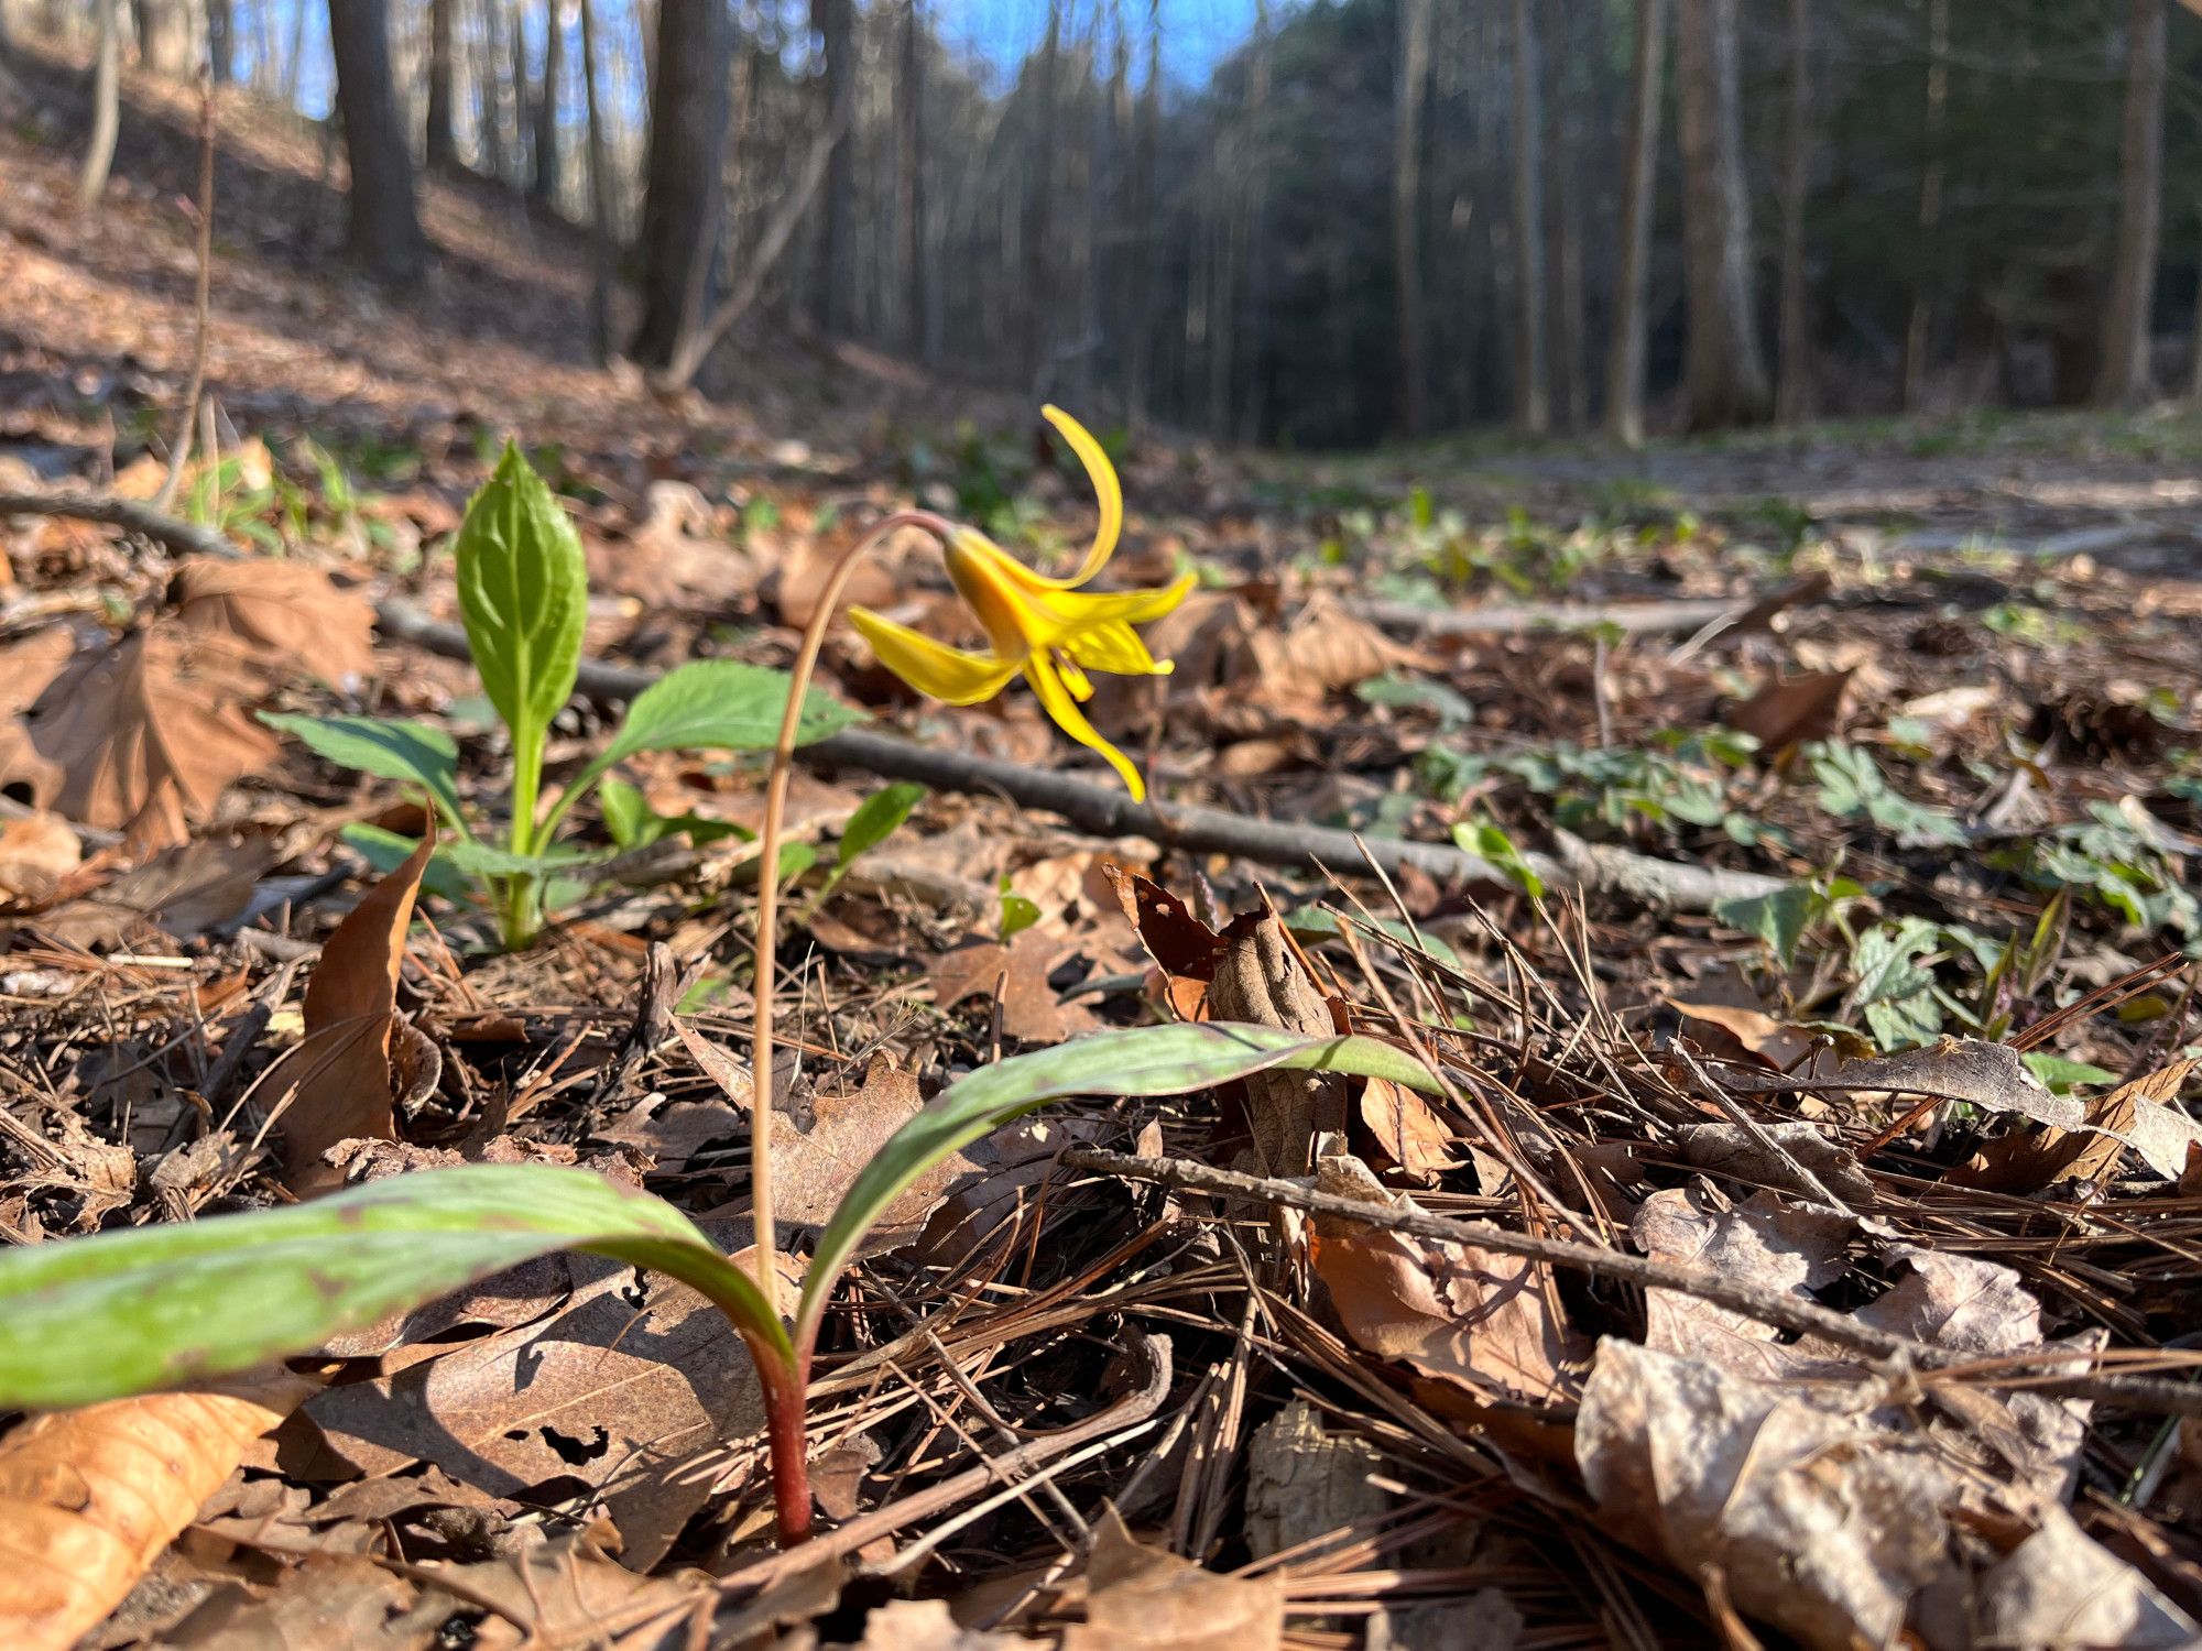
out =
[[[9,515],[66,515],[79,522],[106,522],[141,533],[181,555],[242,555],[214,528],[181,522],[137,500],[106,493],[0,493],[0,517]],[[374,623],[383,636],[394,641],[425,647],[445,658],[473,658],[462,630],[443,625],[396,597],[374,603]],[[656,680],[656,671],[588,658],[581,660],[579,671],[579,689],[610,702],[632,700]],[[1134,803],[1114,786],[1097,786],[1053,768],[998,762],[964,751],[936,751],[896,740],[890,733],[850,729],[802,746],[797,755],[815,768],[857,768],[883,779],[914,779],[936,790],[1004,797],[1020,808],[1044,808],[1050,814],[1061,814],[1070,826],[1092,837],[1145,837],[1193,854],[1240,854],[1264,865],[1308,872],[1350,872],[1359,865],[1376,865],[1387,876],[1398,876],[1411,867],[1442,887],[1513,887],[1513,881],[1497,865],[1447,843],[1407,843],[1361,837],[1330,826],[1249,819],[1196,803]],[[1583,852],[1574,854],[1572,863],[1535,852],[1522,859],[1550,889],[1583,887],[1629,894],[1669,911],[1707,911],[1713,900],[1748,898],[1781,887],[1779,878],[1755,872],[1709,872],[1607,845],[1579,843],[1577,848]]]

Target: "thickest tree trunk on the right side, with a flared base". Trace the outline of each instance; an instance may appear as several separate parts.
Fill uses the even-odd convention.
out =
[[[1680,0],[1682,264],[1689,348],[1682,394],[1691,429],[1757,423],[1773,392],[1751,299],[1751,196],[1744,189],[1742,70],[1735,0]]]

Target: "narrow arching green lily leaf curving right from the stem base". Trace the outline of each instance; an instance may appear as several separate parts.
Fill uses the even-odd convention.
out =
[[[1053,1050],[982,1065],[936,1094],[872,1156],[819,1235],[795,1314],[795,1345],[808,1347],[835,1279],[872,1222],[925,1171],[1026,1112],[1072,1094],[1185,1094],[1249,1072],[1293,1068],[1356,1072],[1416,1090],[1438,1081],[1416,1057],[1374,1037],[1299,1037],[1273,1026],[1200,1021],[1094,1032]]]

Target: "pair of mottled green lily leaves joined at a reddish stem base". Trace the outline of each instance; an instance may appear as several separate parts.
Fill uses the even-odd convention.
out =
[[[1048,1101],[1158,1096],[1271,1068],[1436,1087],[1370,1037],[1182,1024],[1097,1032],[980,1068],[857,1173],[819,1233],[793,1323],[687,1215],[553,1165],[421,1169],[291,1209],[141,1226],[0,1253],[0,1409],[59,1409],[304,1354],[548,1250],[656,1268],[740,1332],[764,1393],[782,1543],[810,1534],[804,1389],[826,1303],[859,1242],[949,1153]]]

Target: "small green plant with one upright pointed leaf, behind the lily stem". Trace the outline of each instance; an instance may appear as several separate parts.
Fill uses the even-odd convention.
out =
[[[641,792],[612,768],[645,751],[771,751],[788,704],[784,671],[738,660],[691,660],[667,671],[628,707],[610,744],[542,806],[544,748],[550,720],[566,709],[581,674],[581,630],[588,621],[588,566],[581,539],[557,495],[528,469],[517,447],[506,447],[495,475],[473,495],[454,544],[458,605],[473,647],[482,691],[495,707],[511,740],[513,786],[502,826],[469,819],[458,797],[458,744],[429,722],[394,718],[264,720],[297,735],[317,753],[346,768],[403,779],[427,790],[445,828],[445,841],[429,867],[432,885],[462,894],[471,885],[489,889],[498,931],[506,947],[528,944],[544,925],[546,889],[606,859],[579,845],[559,843],[559,826],[575,803],[599,786],[614,848],[625,850],[667,830],[733,830],[713,821],[658,819]],[[797,744],[810,744],[861,720],[861,711],[806,693]],[[885,810],[874,808],[868,826],[885,819],[894,830],[909,803],[907,788],[890,790]],[[394,865],[412,843],[352,828],[348,837],[372,859]],[[843,843],[841,865],[854,859]],[[782,863],[788,874],[799,865]]]

